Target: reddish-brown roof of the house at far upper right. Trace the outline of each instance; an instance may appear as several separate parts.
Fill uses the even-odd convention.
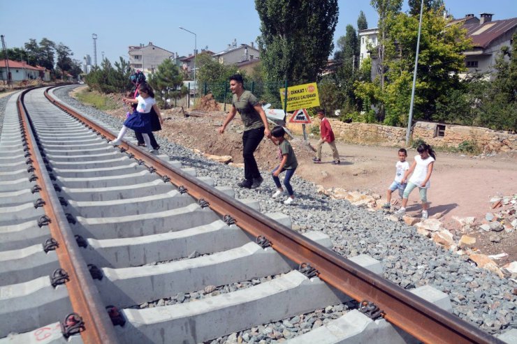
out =
[[[484,24],[464,24],[463,29],[467,29],[467,38],[472,38],[474,47],[485,49],[490,43],[517,27],[517,18],[506,20],[495,20]]]

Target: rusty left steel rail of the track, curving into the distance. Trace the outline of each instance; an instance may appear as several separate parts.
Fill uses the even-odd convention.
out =
[[[24,128],[27,147],[36,168],[34,174],[38,177],[38,185],[41,187],[40,197],[45,202],[43,209],[45,209],[45,215],[50,218],[48,224],[50,234],[59,244],[56,248],[59,265],[69,277],[65,286],[68,290],[72,309],[82,317],[85,324],[85,330],[80,332],[82,341],[92,344],[119,343],[108,312],[101,301],[99,291],[94,286],[87,264],[78,250],[78,244],[63,213],[61,203],[54,192],[52,181],[48,174],[43,172],[45,171],[45,164],[38,150],[29,124],[27,108],[24,105],[24,96],[31,90],[27,89],[18,96],[18,116]]]

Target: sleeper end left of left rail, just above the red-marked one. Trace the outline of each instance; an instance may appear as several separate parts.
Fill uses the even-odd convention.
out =
[[[64,285],[55,289],[49,276],[0,287],[0,338],[27,332],[72,313]]]

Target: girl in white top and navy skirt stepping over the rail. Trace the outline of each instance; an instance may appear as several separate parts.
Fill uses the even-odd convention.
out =
[[[133,129],[142,133],[147,150],[154,151],[149,138],[149,133],[151,133],[152,130],[150,118],[151,109],[154,108],[154,111],[156,111],[160,123],[163,122],[163,119],[161,119],[160,110],[156,106],[156,100],[154,100],[154,91],[152,91],[149,84],[144,82],[143,84],[138,85],[138,93],[139,96],[136,99],[122,98],[124,103],[137,104],[136,110],[127,117],[126,121],[124,121],[124,126],[120,129],[118,137],[115,140],[110,141],[109,144],[118,146],[122,143],[122,137],[126,135],[127,130]]]

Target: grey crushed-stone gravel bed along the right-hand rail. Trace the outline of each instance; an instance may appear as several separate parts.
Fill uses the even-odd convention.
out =
[[[68,96],[68,91],[72,88],[63,87],[54,91],[54,94],[94,119],[114,128],[122,127],[121,120],[82,105]],[[8,98],[0,98],[2,121]],[[274,200],[270,197],[275,191],[275,184],[268,171],[263,171],[265,181],[260,188],[238,188],[235,184],[242,180],[241,169],[207,160],[190,149],[163,140],[159,135],[156,135],[156,140],[161,146],[161,154],[180,160],[184,167],[195,167],[198,176],[212,177],[216,186],[232,186],[235,188],[236,198],[253,197],[259,200],[263,212],[280,211],[291,216],[294,230],[319,230],[328,234],[333,241],[333,249],[340,255],[351,257],[366,254],[379,260],[384,269],[384,278],[389,281],[408,290],[431,285],[449,294],[453,314],[483,331],[501,334],[517,328],[517,296],[514,294],[516,283],[477,268],[467,256],[444,250],[418,234],[415,227],[402,221],[388,220],[382,211],[369,211],[353,206],[347,200],[334,200],[318,194],[314,184],[296,177],[296,174],[291,179],[296,202],[284,205],[284,198]],[[264,331],[290,331],[292,322],[296,320],[298,319],[276,322],[275,328],[266,325]],[[253,334],[240,332],[237,336],[258,338],[254,336],[256,333],[258,329],[254,329]],[[266,335],[261,336],[261,339],[264,343],[274,343],[278,339],[274,337]],[[223,343],[226,339],[218,338],[212,343]]]

